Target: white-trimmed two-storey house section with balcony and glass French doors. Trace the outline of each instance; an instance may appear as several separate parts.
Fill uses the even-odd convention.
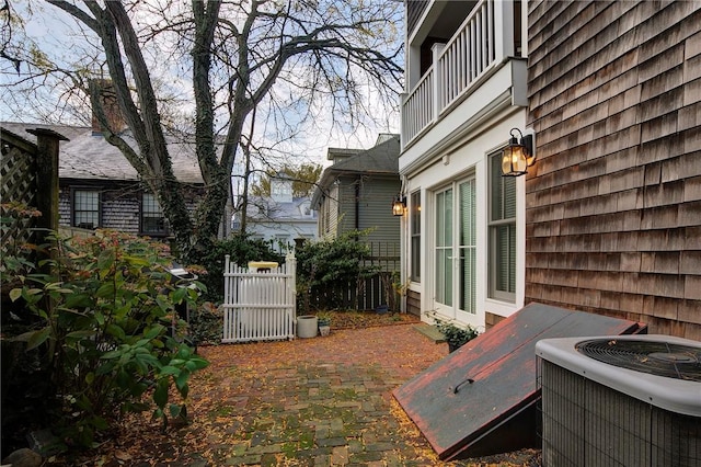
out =
[[[484,329],[524,306],[525,180],[501,166],[512,129],[529,133],[526,18],[526,2],[406,2],[409,312]]]

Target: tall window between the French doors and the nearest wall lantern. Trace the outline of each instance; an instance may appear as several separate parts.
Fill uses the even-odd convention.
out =
[[[501,152],[490,156],[490,297],[516,300],[516,178],[502,176]]]

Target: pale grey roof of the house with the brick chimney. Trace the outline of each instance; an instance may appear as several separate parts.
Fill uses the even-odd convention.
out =
[[[44,128],[68,138],[61,141],[58,157],[58,176],[78,180],[115,180],[138,181],[139,176],[116,147],[112,146],[100,134],[93,134],[89,126],[43,125],[35,123],[1,122],[0,127],[36,143],[36,136],[28,129]],[[125,132],[122,137],[134,148],[136,140]],[[193,143],[182,141],[166,136],[168,151],[173,162],[173,171],[177,180],[184,183],[203,183],[199,164]]]

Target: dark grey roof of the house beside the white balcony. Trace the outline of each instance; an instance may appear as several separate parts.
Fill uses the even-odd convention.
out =
[[[319,204],[321,195],[327,192],[333,181],[338,175],[344,174],[375,174],[375,175],[399,175],[399,135],[378,138],[376,146],[368,150],[357,152],[347,159],[341,160],[324,169],[314,194],[311,198],[312,206]],[[337,151],[330,148],[329,151]]]

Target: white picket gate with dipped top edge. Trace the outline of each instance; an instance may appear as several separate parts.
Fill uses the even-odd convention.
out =
[[[226,257],[221,342],[295,339],[296,259],[266,272],[239,267]]]

